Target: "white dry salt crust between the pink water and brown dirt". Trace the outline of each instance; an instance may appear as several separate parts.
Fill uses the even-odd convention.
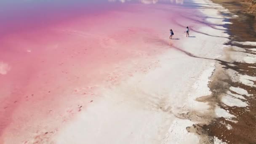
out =
[[[209,0],[195,0],[195,2],[202,5],[214,4]],[[222,8],[221,5],[214,5],[216,5],[216,9],[201,11],[207,16],[216,18],[223,18],[219,14],[220,11],[228,13],[227,9]],[[221,19],[207,19],[207,21],[213,24],[227,23]],[[197,39],[188,39],[188,43],[179,43],[175,46],[182,48],[184,51],[197,53],[199,56],[211,59],[220,57],[222,43],[227,41],[223,37],[228,37],[228,35],[223,33],[221,29],[216,30],[206,26],[201,27],[199,31],[222,37],[195,33]],[[216,44],[216,42],[218,43]],[[203,43],[204,45],[202,47],[196,45],[197,48],[193,48],[192,43]],[[115,88],[101,89],[103,98],[95,101],[69,125],[64,126],[55,137],[56,143],[80,144],[81,141],[94,144],[106,142],[111,144],[198,143],[200,138],[186,130],[188,126],[197,122],[182,120],[175,117],[175,115],[189,112],[189,109],[208,110],[207,103],[198,102],[195,99],[211,94],[207,85],[210,81],[209,77],[215,69],[215,63],[205,60],[202,64],[201,59],[186,55],[175,56],[173,51],[175,50],[169,50],[158,56],[157,59],[160,59],[161,64],[160,68],[149,71],[146,75],[136,74]],[[183,68],[179,67],[181,63],[170,63],[176,57],[181,57],[182,64],[184,64]],[[170,58],[172,59],[170,60]],[[200,68],[196,66],[197,63],[200,63]],[[193,67],[189,67],[190,64]],[[188,69],[189,72],[187,72]],[[183,77],[180,78],[178,75],[183,75]],[[171,85],[172,82],[176,82],[175,85]],[[161,83],[161,85],[155,85],[156,83]],[[182,89],[184,87],[188,90]],[[238,93],[232,93],[232,96],[240,99],[243,99],[242,95],[250,96],[242,88],[231,87],[230,91]],[[224,98],[226,104],[245,106],[237,100],[239,99]],[[224,117],[229,121],[236,122],[232,120],[232,118],[235,118],[234,115],[220,107],[216,107],[215,114],[217,117]],[[215,137],[214,144],[226,143]]]

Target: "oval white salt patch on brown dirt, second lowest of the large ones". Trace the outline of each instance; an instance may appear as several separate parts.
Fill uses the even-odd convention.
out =
[[[248,104],[241,101],[240,99],[235,99],[232,96],[226,95],[221,98],[221,101],[229,107],[247,107]]]

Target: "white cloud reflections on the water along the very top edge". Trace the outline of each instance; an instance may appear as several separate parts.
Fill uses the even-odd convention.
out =
[[[130,2],[131,0],[108,0],[109,2]],[[183,4],[184,0],[139,0],[139,2],[144,4],[155,4],[155,3],[161,3],[161,2],[170,2],[170,3],[176,3],[176,4]]]

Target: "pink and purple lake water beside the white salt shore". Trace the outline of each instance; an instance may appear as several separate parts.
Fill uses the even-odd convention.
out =
[[[186,1],[141,1],[0,2],[0,144],[50,143],[40,133],[86,110],[94,89],[147,72],[133,60],[170,48],[170,28],[193,28],[182,15],[198,11]]]

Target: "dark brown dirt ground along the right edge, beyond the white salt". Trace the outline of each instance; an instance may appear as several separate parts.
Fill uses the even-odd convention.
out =
[[[255,46],[246,46],[232,44],[232,41],[256,41],[256,19],[252,14],[248,14],[248,7],[250,3],[247,0],[212,0],[214,3],[219,3],[229,11],[238,15],[238,18],[229,19],[232,24],[227,24],[228,33],[231,35],[230,42],[226,45],[235,45],[241,48],[247,48],[246,53],[256,54],[250,51],[250,48]],[[205,138],[205,136],[216,136],[228,144],[256,144],[256,88],[243,85],[242,83],[235,83],[230,80],[225,69],[233,69],[242,75],[250,75],[256,77],[256,69],[250,67],[256,67],[256,64],[246,64],[240,62],[233,62],[236,66],[232,67],[228,65],[228,62],[220,62],[221,67],[216,69],[216,72],[212,76],[212,82],[209,84],[209,88],[213,92],[211,100],[215,101],[219,107],[229,110],[229,113],[235,115],[237,123],[233,123],[225,120],[223,117],[214,119],[210,124],[197,124],[193,125],[196,131],[192,131],[187,128],[188,131],[196,132],[198,135]],[[254,82],[255,83],[255,82]],[[256,84],[256,83],[255,83]],[[228,107],[221,103],[220,98],[226,88],[230,86],[240,87],[253,94],[251,97],[246,97],[246,101],[249,104],[248,107]],[[235,93],[235,92],[233,92]],[[244,100],[243,100],[244,101]],[[228,130],[223,123],[229,124],[233,129]],[[201,141],[203,143],[213,143],[213,139]]]

